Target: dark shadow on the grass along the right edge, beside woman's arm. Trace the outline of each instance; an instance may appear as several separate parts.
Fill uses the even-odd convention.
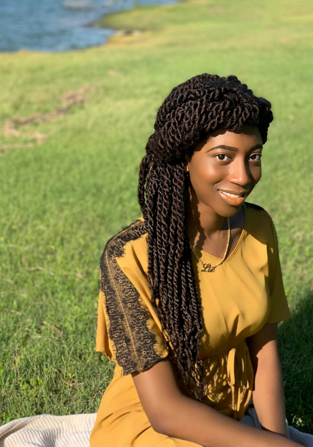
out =
[[[313,291],[278,331],[288,423],[313,434]]]

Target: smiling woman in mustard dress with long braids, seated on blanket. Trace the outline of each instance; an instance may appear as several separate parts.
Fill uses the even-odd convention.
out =
[[[290,316],[261,177],[271,104],[203,74],[159,109],[143,218],[106,245],[97,351],[116,363],[91,446],[298,446],[286,439],[277,323]],[[253,405],[263,430],[238,421]]]

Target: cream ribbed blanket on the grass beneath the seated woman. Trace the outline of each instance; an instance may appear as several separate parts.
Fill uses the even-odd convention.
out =
[[[0,447],[89,447],[96,413],[68,416],[22,417],[0,427]],[[250,407],[242,423],[261,428],[255,409]],[[313,447],[313,435],[288,426],[288,438]],[[103,444],[103,447],[111,447]]]

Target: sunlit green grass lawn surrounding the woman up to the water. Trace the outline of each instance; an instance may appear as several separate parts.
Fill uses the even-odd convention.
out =
[[[313,433],[311,2],[186,0],[102,24],[142,32],[0,55],[0,423],[96,412],[113,371],[94,352],[100,255],[140,215],[138,166],[159,105],[209,72],[272,102],[249,201],[274,219],[294,312],[280,326],[288,420]]]

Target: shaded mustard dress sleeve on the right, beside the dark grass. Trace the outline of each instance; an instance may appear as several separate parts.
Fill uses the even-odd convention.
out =
[[[288,308],[287,298],[284,291],[277,234],[274,223],[269,215],[268,218],[271,228],[271,240],[269,243],[268,253],[268,286],[271,307],[269,316],[267,318],[267,323],[279,323],[280,321],[284,321],[290,318],[291,314]]]

